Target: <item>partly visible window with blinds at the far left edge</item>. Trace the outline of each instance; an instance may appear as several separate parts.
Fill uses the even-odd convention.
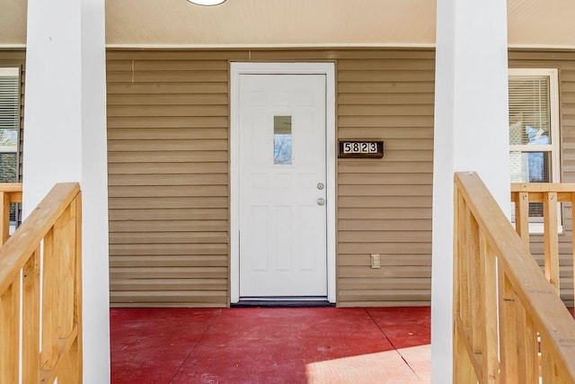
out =
[[[20,68],[0,67],[0,183],[18,181]],[[16,221],[16,207],[10,212]]]

